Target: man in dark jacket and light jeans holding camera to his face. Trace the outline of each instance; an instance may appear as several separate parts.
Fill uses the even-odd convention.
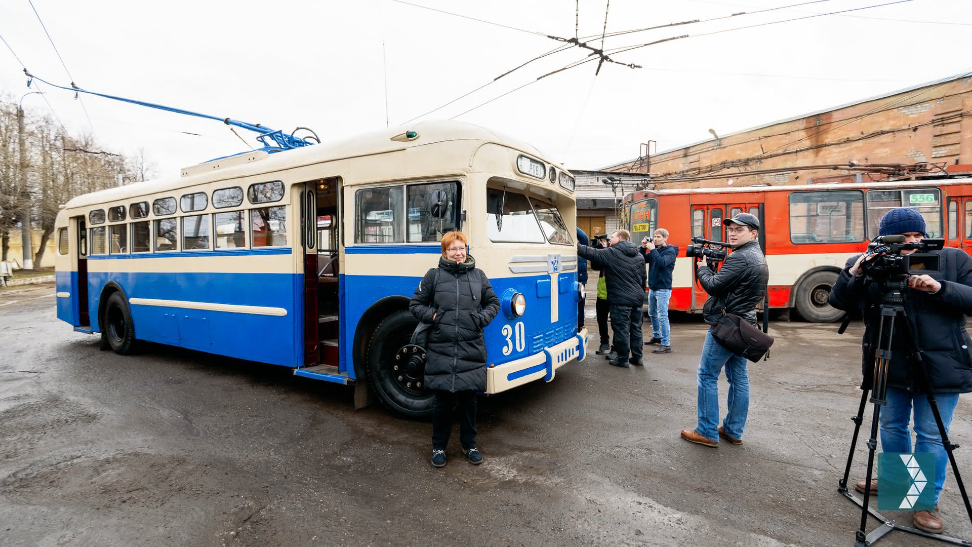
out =
[[[672,273],[678,247],[668,244],[668,237],[668,230],[659,228],[651,239],[645,237],[642,240],[642,254],[648,264],[648,315],[651,316],[651,340],[644,344],[661,344],[652,349],[652,353],[672,352],[668,303],[672,298]]]

